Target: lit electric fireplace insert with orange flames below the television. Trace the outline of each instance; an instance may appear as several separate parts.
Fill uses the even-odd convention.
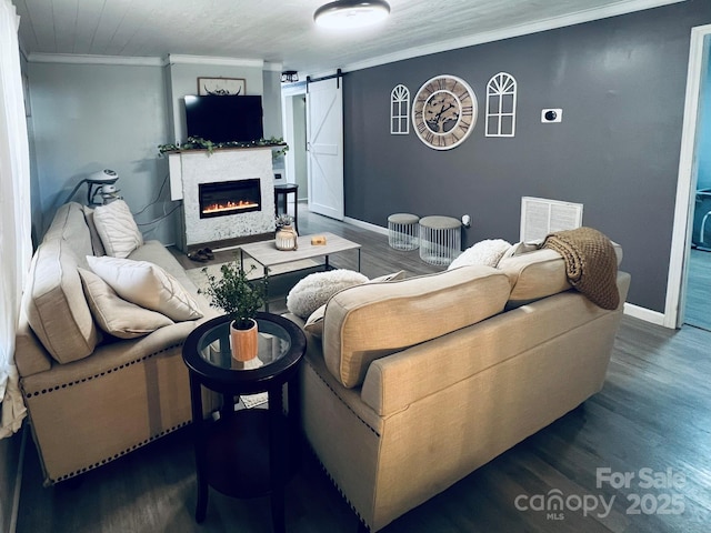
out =
[[[198,188],[201,219],[261,211],[259,178],[199,183]]]

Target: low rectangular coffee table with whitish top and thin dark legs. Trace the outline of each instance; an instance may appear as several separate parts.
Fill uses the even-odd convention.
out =
[[[360,272],[360,244],[333,233],[319,233],[319,235],[326,237],[326,244],[311,244],[311,237],[313,235],[303,235],[297,239],[297,250],[277,250],[273,240],[242,244],[240,247],[240,260],[244,264],[244,255],[249,255],[262,265],[264,275],[269,275],[269,270],[273,266],[304,259],[323,258],[323,270],[330,270],[329,255],[358,250],[358,271]],[[269,294],[266,300],[266,310],[269,311]]]

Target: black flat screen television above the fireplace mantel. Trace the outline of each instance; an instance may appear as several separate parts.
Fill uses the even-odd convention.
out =
[[[212,142],[252,142],[264,137],[262,97],[186,97],[188,137]]]

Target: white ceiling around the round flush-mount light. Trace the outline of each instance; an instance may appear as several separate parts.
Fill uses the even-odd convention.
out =
[[[635,11],[680,0],[390,0],[358,31],[317,28],[328,0],[12,0],[24,53],[256,59],[318,73]]]

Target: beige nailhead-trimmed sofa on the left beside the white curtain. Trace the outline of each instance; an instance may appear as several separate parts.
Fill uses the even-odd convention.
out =
[[[170,251],[148,241],[129,259],[172,274],[204,319],[170,323],[136,339],[103,333],[78,271],[89,270],[87,255],[100,248],[96,235],[92,248],[89,228],[82,205],[68,203],[58,210],[34,253],[17,333],[16,363],[46,484],[108,463],[188,424],[182,343],[198,323],[216,314]],[[207,411],[211,400],[204,400]]]

